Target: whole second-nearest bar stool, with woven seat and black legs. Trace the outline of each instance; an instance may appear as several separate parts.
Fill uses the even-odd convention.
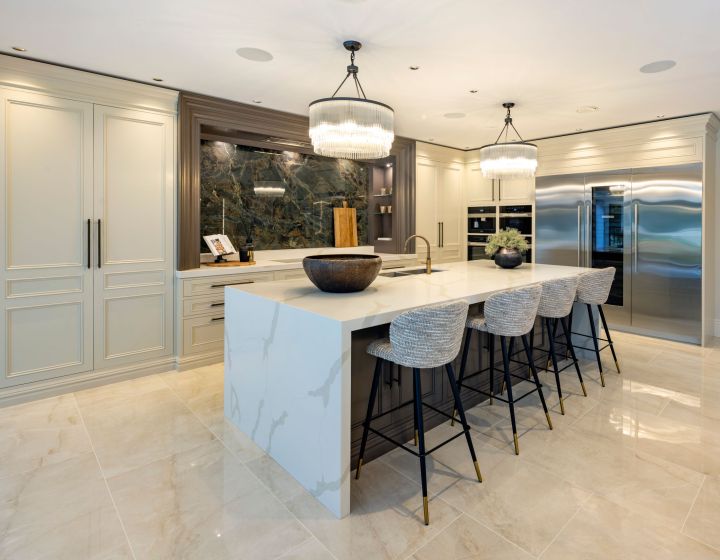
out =
[[[517,425],[515,423],[516,402],[537,391],[540,396],[540,402],[542,403],[543,410],[545,411],[545,418],[547,419],[548,427],[551,430],[553,428],[547,404],[545,403],[545,396],[543,395],[540,380],[537,376],[537,369],[535,368],[535,364],[532,360],[530,344],[528,342],[528,333],[535,325],[535,317],[537,316],[538,306],[540,305],[541,294],[542,287],[537,284],[526,288],[519,288],[493,294],[485,302],[483,313],[468,317],[466,322],[467,336],[465,337],[465,348],[463,349],[463,360],[460,368],[458,385],[460,387],[470,389],[471,391],[475,391],[476,393],[489,396],[492,404],[492,397],[495,392],[495,337],[499,337],[503,355],[503,378],[505,381],[505,387],[507,388],[508,398],[505,399],[497,396],[495,396],[495,398],[506,402],[510,408],[510,422],[512,423],[513,443],[515,444],[516,455],[520,454]],[[481,370],[469,376],[465,375],[467,354],[470,347],[470,337],[472,336],[473,331],[488,333],[488,347],[490,351],[490,365],[488,368],[490,370],[489,393],[465,383],[468,379],[472,379],[485,371]],[[510,355],[508,352],[508,339],[512,341],[515,337],[519,337],[522,341],[523,348],[525,349],[525,356],[527,358],[528,365],[530,366],[533,380],[535,381],[535,388],[521,395],[517,399],[513,397],[512,382],[510,378],[520,378],[520,376],[510,373]],[[525,380],[525,378],[521,379]]]

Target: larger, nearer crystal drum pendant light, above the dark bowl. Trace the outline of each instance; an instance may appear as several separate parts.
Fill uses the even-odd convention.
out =
[[[392,107],[365,97],[355,53],[362,46],[358,41],[345,41],[350,51],[347,75],[332,97],[310,103],[310,140],[316,154],[343,159],[378,159],[390,154],[395,139]],[[352,76],[357,97],[335,97]]]

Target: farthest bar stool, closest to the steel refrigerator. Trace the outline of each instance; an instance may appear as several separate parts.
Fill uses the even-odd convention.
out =
[[[580,281],[578,282],[577,289],[577,301],[578,303],[584,303],[587,307],[588,321],[590,322],[590,335],[576,332],[572,333],[576,336],[592,338],[593,347],[595,348],[595,358],[597,360],[598,369],[600,370],[600,383],[603,387],[605,387],[605,376],[603,375],[602,361],[600,360],[600,352],[602,350],[605,350],[608,347],[610,348],[613,360],[615,361],[615,368],[617,369],[617,372],[620,373],[620,364],[618,363],[617,355],[615,354],[615,347],[613,346],[613,341],[610,337],[610,330],[608,329],[607,321],[605,320],[605,313],[602,308],[603,304],[607,302],[608,297],[610,296],[610,288],[612,287],[614,279],[615,267],[613,266],[608,268],[592,269],[580,275]],[[595,328],[595,321],[593,320],[592,313],[593,305],[598,308],[600,321],[602,322],[603,329],[605,329],[605,336],[607,338],[599,338],[597,335],[597,329]],[[570,315],[570,324],[572,326],[572,314]],[[599,341],[607,342],[607,344],[600,348]]]

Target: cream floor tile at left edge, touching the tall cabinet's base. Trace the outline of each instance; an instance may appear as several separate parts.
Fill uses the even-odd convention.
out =
[[[0,408],[0,478],[91,450],[73,395]]]

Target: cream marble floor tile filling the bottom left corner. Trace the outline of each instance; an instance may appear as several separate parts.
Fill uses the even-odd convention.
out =
[[[0,480],[0,558],[132,557],[92,453]]]

